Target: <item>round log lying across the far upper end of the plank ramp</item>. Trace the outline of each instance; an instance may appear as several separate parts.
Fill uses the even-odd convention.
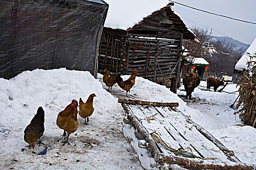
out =
[[[138,100],[126,100],[118,98],[119,103],[126,104],[140,104],[140,105],[149,105],[149,106],[165,106],[165,107],[178,107],[177,102],[146,102],[146,101],[138,101]]]

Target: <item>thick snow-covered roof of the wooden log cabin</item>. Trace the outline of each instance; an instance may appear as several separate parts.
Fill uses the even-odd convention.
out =
[[[152,17],[161,10],[171,9],[169,0],[105,0],[109,4],[108,14],[104,27],[121,30],[133,30],[138,27],[144,20]],[[192,34],[196,36],[184,22],[179,15],[173,13],[173,21],[180,32],[185,34]],[[185,37],[185,36],[184,36]],[[194,38],[194,37],[193,37]]]

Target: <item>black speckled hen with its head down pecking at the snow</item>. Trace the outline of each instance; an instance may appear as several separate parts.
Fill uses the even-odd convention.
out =
[[[37,114],[31,120],[24,131],[24,140],[29,144],[29,148],[35,147],[35,142],[43,136],[44,132],[44,111],[42,107],[38,108]],[[38,143],[37,143],[38,144]],[[41,141],[39,141],[39,146]]]

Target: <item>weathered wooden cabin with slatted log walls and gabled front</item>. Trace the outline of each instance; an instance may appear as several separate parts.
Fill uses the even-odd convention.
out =
[[[171,9],[172,5],[169,3],[141,18],[138,24],[126,30],[109,24],[104,26],[98,71],[107,68],[111,73],[130,75],[137,69],[138,76],[153,82],[170,79],[170,90],[176,93],[183,53],[182,39],[194,39],[195,34]]]

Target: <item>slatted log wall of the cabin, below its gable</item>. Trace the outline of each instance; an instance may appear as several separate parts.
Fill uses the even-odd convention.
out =
[[[180,52],[180,39],[146,39],[103,33],[98,67],[128,75],[137,69],[138,76],[154,82],[168,77],[176,79],[175,66]]]

